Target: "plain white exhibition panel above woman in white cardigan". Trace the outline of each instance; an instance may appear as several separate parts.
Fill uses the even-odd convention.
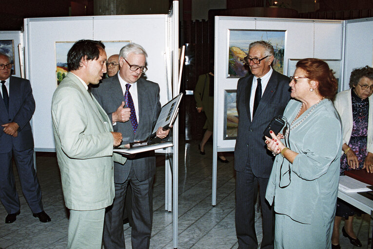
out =
[[[346,21],[345,61],[344,90],[354,68],[373,67],[373,18]]]

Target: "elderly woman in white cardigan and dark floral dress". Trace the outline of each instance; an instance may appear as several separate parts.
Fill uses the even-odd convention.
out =
[[[340,160],[340,175],[346,170],[365,169],[373,173],[373,68],[354,69],[350,76],[351,89],[337,94],[334,106],[343,126],[344,154]],[[333,249],[339,249],[339,226],[342,217],[345,225],[343,236],[351,244],[361,247],[361,242],[353,231],[353,215],[360,213],[350,204],[338,199],[332,236]]]

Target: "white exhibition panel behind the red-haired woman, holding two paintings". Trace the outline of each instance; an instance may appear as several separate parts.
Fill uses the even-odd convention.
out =
[[[224,140],[224,93],[236,90],[238,78],[227,78],[229,30],[285,31],[284,74],[289,59],[315,57],[341,60],[342,21],[285,18],[215,18],[215,111],[214,144],[217,151],[233,151],[236,140]],[[249,47],[249,44],[247,44]],[[372,49],[372,48],[371,48]],[[214,145],[215,147],[215,145]]]

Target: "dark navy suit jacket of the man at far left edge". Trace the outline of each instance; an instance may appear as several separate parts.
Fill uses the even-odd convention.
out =
[[[0,95],[0,124],[16,122],[20,129],[16,138],[5,134],[1,129],[0,153],[10,152],[13,146],[18,151],[34,147],[30,120],[35,111],[35,100],[30,81],[10,76],[8,94],[9,114]]]

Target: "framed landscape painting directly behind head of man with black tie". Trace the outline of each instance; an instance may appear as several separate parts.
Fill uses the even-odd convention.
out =
[[[240,78],[250,73],[243,58],[249,53],[249,44],[259,40],[272,44],[275,50],[273,69],[284,72],[285,31],[229,30],[228,77]]]

